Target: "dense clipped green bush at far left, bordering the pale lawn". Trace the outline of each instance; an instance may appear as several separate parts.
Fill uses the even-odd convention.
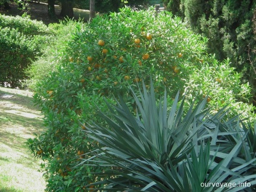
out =
[[[0,14],[0,85],[22,88],[25,69],[40,56],[53,31],[42,22]]]

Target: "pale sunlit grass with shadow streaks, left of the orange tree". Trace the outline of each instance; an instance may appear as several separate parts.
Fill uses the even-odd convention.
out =
[[[13,95],[2,98],[4,94]],[[42,115],[33,104],[32,93],[0,88],[0,191],[44,191],[39,159],[25,142],[43,132]]]

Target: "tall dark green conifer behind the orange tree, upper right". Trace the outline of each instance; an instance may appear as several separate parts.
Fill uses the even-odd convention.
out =
[[[165,0],[167,9],[181,16],[196,33],[209,39],[208,50],[217,59],[231,59],[231,65],[243,74],[256,90],[256,40],[252,18],[253,0]]]

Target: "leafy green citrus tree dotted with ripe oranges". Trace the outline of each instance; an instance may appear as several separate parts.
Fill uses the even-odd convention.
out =
[[[96,107],[106,111],[102,96],[115,103],[120,94],[136,110],[129,85],[140,86],[141,80],[149,85],[152,77],[156,94],[166,88],[171,101],[196,69],[213,60],[206,54],[206,39],[187,30],[179,18],[172,19],[171,13],[123,8],[81,26],[65,48],[57,50],[57,69],[40,81],[34,95],[48,129],[28,143],[44,160],[47,191],[83,191],[104,177],[100,167],[81,160],[91,158],[88,152],[99,147],[82,132],[86,122],[107,129]],[[102,175],[95,178],[95,172]]]

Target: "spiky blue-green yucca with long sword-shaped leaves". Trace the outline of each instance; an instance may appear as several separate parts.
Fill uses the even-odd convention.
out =
[[[149,92],[143,83],[139,97],[134,92],[133,97],[136,115],[120,97],[117,106],[107,104],[112,116],[100,112],[109,128],[88,123],[86,134],[101,147],[87,154],[90,158],[82,163],[94,162],[105,170],[95,176],[112,178],[91,186],[104,186],[98,188],[102,191],[254,190],[251,127],[246,129],[243,124],[241,129],[238,118],[223,121],[225,108],[209,114],[207,98],[184,112],[185,97],[179,101],[178,92],[169,109],[166,92],[157,101],[153,83]],[[240,182],[248,185],[234,187]]]

